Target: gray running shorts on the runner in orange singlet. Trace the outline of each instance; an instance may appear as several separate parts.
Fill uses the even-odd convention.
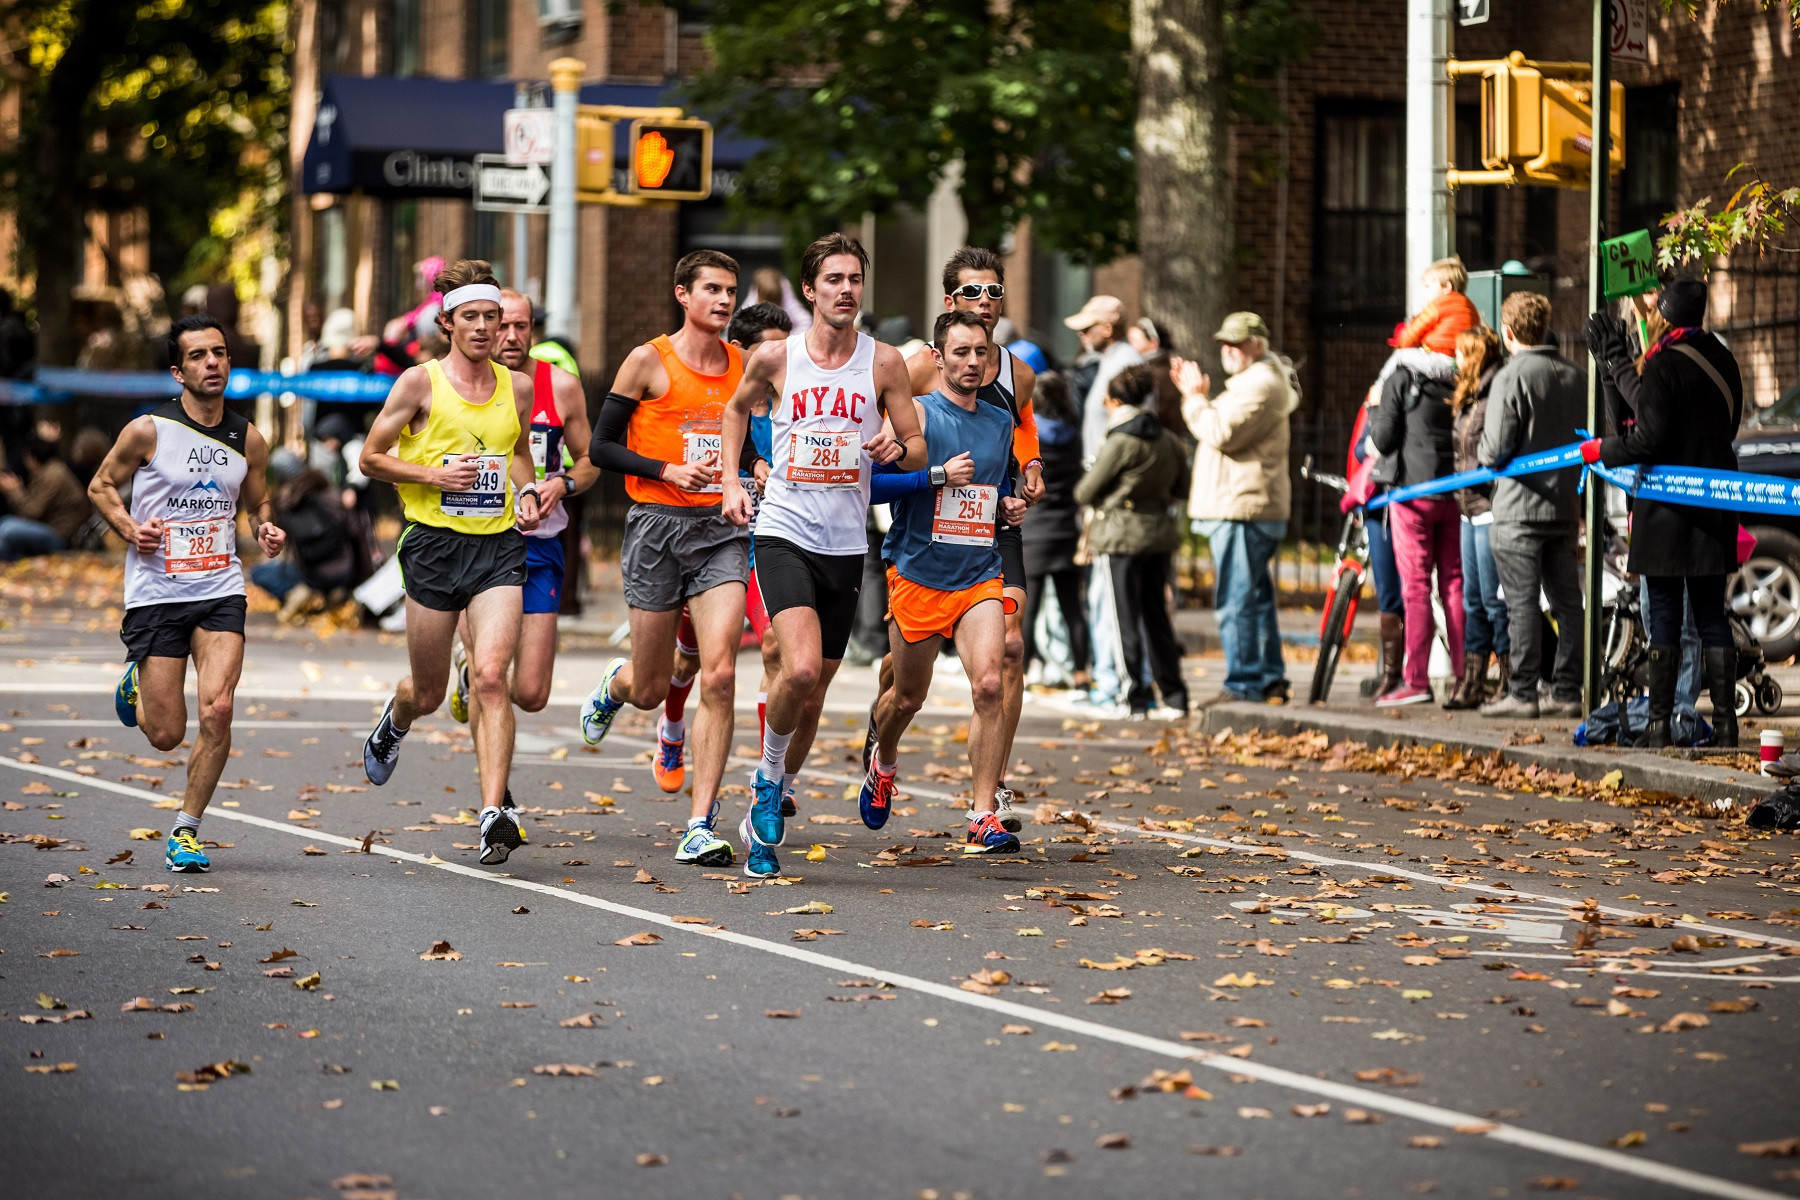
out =
[[[722,583],[749,583],[751,531],[713,506],[634,504],[625,515],[619,572],[626,604],[671,612]]]

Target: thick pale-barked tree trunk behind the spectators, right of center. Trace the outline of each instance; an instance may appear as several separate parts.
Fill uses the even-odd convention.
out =
[[[1143,308],[1217,371],[1235,284],[1224,0],[1132,0],[1130,45]]]

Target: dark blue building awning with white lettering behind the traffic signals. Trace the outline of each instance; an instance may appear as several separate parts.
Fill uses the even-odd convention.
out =
[[[675,88],[644,83],[589,83],[583,104],[659,108],[679,104]],[[329,76],[301,166],[301,193],[371,196],[470,196],[475,155],[499,155],[513,85],[497,79]],[[626,130],[616,155],[625,162]],[[756,146],[713,140],[713,167],[736,169]]]

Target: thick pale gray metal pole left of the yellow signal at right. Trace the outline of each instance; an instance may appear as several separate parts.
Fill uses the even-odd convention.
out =
[[[1454,0],[1406,4],[1406,311],[1424,306],[1420,275],[1451,254],[1449,92]]]

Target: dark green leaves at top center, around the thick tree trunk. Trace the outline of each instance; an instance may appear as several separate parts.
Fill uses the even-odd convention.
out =
[[[1233,106],[1305,52],[1307,0],[1229,0]],[[961,160],[974,245],[1021,219],[1085,261],[1136,248],[1129,0],[720,0],[689,103],[765,142],[733,201],[805,243],[923,207]]]

